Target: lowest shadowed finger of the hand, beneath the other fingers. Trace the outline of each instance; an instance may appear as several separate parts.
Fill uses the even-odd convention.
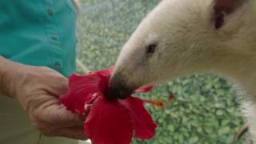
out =
[[[70,128],[60,128],[53,131],[53,136],[61,136],[66,138],[86,140],[83,127],[70,127]]]

